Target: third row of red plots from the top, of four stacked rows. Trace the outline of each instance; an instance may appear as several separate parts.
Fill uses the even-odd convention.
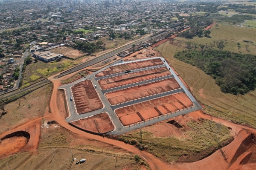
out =
[[[180,88],[180,85],[174,78],[167,78],[160,81],[154,81],[147,84],[129,87],[106,93],[106,97],[111,105],[119,104],[125,101],[132,101],[137,98],[168,92]]]

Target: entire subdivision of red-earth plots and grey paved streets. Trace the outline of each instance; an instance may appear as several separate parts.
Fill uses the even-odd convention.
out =
[[[119,60],[59,89],[66,92],[66,121],[93,134],[119,135],[201,109],[160,57]]]

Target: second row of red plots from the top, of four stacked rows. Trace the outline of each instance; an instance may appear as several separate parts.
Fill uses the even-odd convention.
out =
[[[166,67],[160,67],[156,69],[148,69],[139,72],[131,72],[128,74],[118,75],[111,78],[105,78],[98,81],[101,89],[110,89],[126,84],[137,83],[140,81],[146,81],[153,78],[159,78],[162,76],[171,75]]]

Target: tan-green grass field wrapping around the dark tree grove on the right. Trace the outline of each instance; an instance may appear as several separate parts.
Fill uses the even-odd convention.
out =
[[[176,38],[174,42],[178,44],[172,45],[169,42],[161,44],[157,49],[160,53],[174,66],[178,74],[184,79],[186,84],[191,88],[192,93],[195,97],[206,105],[205,109],[209,109],[209,105],[213,108],[210,113],[227,120],[237,121],[239,123],[247,123],[256,127],[256,91],[250,91],[246,95],[240,95],[238,100],[236,100],[236,95],[225,94],[221,92],[220,87],[215,84],[215,80],[209,75],[205,74],[202,70],[196,68],[187,63],[173,58],[173,55],[185,48],[185,42],[191,41],[192,43],[205,44],[211,43],[213,40],[224,40],[230,38],[225,43],[224,50],[229,50],[232,52],[238,52],[236,43],[241,43],[242,53],[250,53],[255,55],[255,46],[249,44],[248,52],[245,49],[247,43],[242,43],[242,40],[252,40],[253,44],[256,43],[256,40],[253,37],[256,37],[256,31],[253,28],[239,28],[236,26],[228,26],[219,24],[219,29],[216,29],[215,26],[212,27],[212,38]],[[179,47],[180,46],[180,47]],[[215,47],[216,48],[216,47]],[[199,47],[200,49],[200,47]],[[244,104],[245,102],[245,104]]]

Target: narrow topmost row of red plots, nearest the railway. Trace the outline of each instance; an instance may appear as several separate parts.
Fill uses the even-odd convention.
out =
[[[126,64],[117,65],[117,66],[111,66],[108,69],[105,69],[102,72],[99,72],[98,74],[96,74],[95,77],[98,78],[105,75],[112,75],[118,72],[124,72],[125,70],[141,69],[145,67],[158,66],[162,64],[163,64],[163,61],[161,61],[160,58],[147,60],[147,61],[138,61],[134,63],[126,63]]]

